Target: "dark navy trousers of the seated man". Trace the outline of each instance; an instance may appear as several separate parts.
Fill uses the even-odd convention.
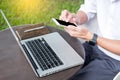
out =
[[[69,80],[113,80],[120,71],[117,61],[88,43],[83,44],[86,52],[84,66]]]

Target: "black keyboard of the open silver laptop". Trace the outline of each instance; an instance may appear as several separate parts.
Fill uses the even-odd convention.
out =
[[[25,43],[43,71],[63,65],[63,62],[48,45],[44,38],[27,41]],[[23,46],[23,49],[26,50],[26,46]]]

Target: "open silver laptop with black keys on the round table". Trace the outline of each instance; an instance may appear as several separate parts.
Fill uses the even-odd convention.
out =
[[[11,32],[38,77],[43,77],[84,63],[78,53],[58,32],[19,41],[2,10]]]

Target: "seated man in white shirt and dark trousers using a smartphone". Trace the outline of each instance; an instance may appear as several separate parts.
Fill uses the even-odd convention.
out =
[[[85,27],[65,27],[71,36],[86,40],[85,64],[70,80],[113,80],[120,71],[120,0],[85,0],[76,14],[64,10],[60,19],[81,25],[95,15],[102,35]]]

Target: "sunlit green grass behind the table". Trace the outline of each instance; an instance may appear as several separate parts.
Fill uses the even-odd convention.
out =
[[[34,1],[25,3],[25,1]],[[35,1],[37,1],[35,3]],[[59,18],[62,10],[76,12],[83,0],[0,0],[3,10],[11,26],[44,23],[56,26],[52,17]],[[0,30],[8,28],[0,14]]]

